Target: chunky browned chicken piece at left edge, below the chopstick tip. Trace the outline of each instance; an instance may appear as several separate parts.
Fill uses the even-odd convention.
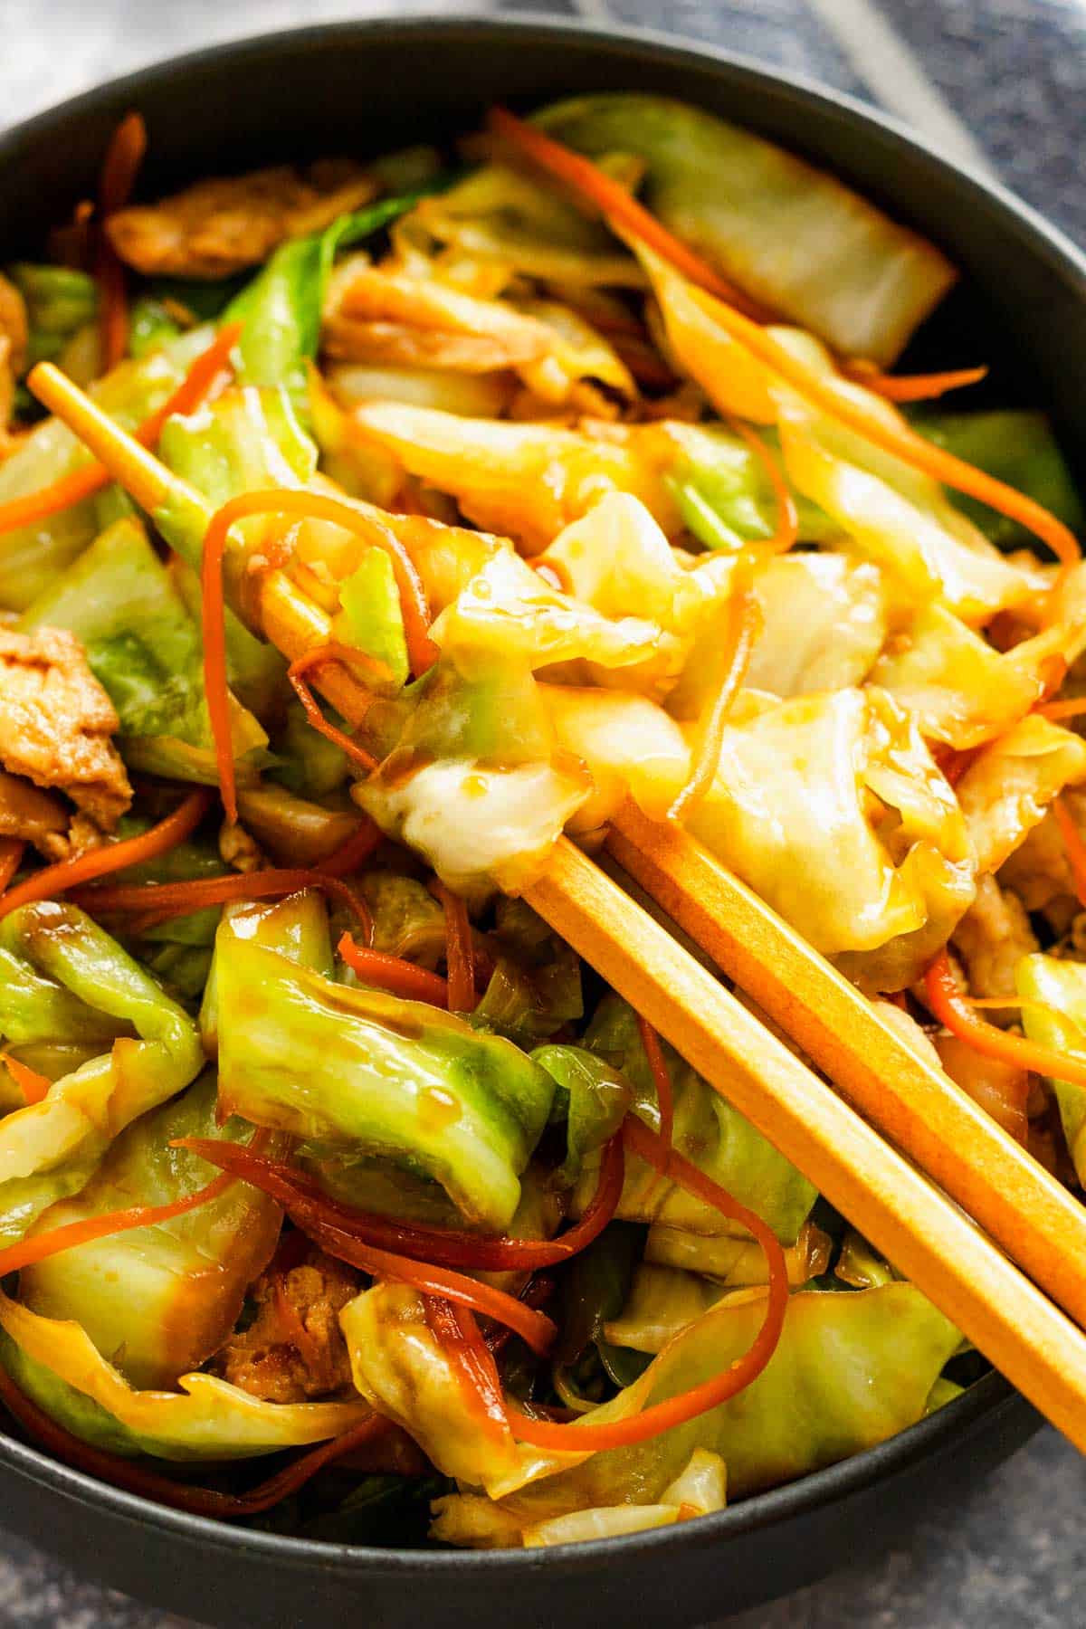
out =
[[[0,767],[65,792],[96,826],[112,831],[132,803],[109,740],[116,730],[114,705],[73,634],[0,627]]]

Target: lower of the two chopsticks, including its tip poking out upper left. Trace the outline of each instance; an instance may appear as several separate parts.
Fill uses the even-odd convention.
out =
[[[177,490],[161,464],[142,450],[137,454],[117,427],[55,368],[36,368],[33,386],[147,510]],[[324,613],[282,572],[265,575],[261,613],[267,635],[290,656],[327,639]],[[314,684],[348,722],[358,722],[361,710],[357,697],[352,705],[348,681],[350,674],[335,663],[314,671]],[[1086,1450],[1086,1334],[962,1210],[568,839],[558,839],[547,876],[526,898],[1013,1385]],[[684,906],[679,894],[672,902]],[[765,1005],[769,1010],[770,1002]],[[814,1041],[819,1044],[817,1036]],[[992,1175],[998,1179],[1000,1171]],[[1021,1227],[1031,1227],[1029,1215]],[[1045,1266],[1049,1248],[1049,1240],[1037,1245],[1037,1267]]]

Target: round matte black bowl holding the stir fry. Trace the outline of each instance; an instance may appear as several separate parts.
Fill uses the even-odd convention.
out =
[[[381,153],[471,129],[488,103],[681,96],[764,130],[938,239],[962,288],[910,360],[998,360],[1000,399],[1047,406],[1086,471],[1086,261],[1006,194],[843,96],[650,34],[545,20],[405,18],[301,29],[117,80],[0,138],[0,259],[41,249],[93,192],[117,119],[150,125],[148,191],[275,158]],[[891,1442],[720,1515],[554,1551],[317,1544],[181,1515],[0,1435],[3,1525],[161,1609],[246,1629],[485,1629],[720,1619],[871,1556],[961,1499],[1037,1427],[988,1375]]]

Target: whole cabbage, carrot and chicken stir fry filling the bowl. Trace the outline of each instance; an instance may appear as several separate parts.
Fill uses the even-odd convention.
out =
[[[684,823],[1086,1184],[1044,414],[904,371],[952,267],[695,108],[135,204],[145,140],[0,277],[16,1429],[225,1520],[547,1546],[922,1419],[975,1354],[523,896],[628,798]]]

